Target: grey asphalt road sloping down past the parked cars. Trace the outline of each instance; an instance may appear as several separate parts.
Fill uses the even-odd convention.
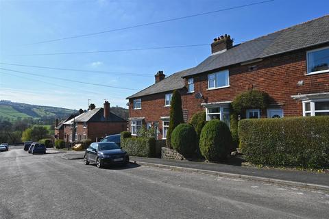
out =
[[[62,153],[0,153],[0,218],[328,218],[329,194]]]

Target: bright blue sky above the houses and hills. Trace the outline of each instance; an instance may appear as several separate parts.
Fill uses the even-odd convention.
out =
[[[0,0],[0,99],[70,109],[86,109],[88,99],[102,107],[106,99],[127,107],[125,98],[151,86],[159,70],[169,76],[205,60],[213,38],[230,34],[237,44],[324,16],[329,8],[328,0],[275,0],[43,42],[260,1],[265,0]],[[80,51],[112,52],[38,55]]]

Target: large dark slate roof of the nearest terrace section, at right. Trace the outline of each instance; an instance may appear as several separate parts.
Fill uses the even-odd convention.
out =
[[[329,42],[329,15],[316,18],[210,55],[186,76]]]

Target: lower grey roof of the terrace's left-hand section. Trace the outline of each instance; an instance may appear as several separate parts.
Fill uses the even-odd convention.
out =
[[[132,96],[128,96],[127,99],[184,88],[185,84],[184,79],[182,79],[182,77],[190,73],[191,70],[193,70],[193,68],[188,68],[186,70],[179,71],[178,73],[173,73],[173,75],[166,77],[162,81],[154,83],[148,88],[145,88],[144,90],[141,90],[140,92],[137,92]]]

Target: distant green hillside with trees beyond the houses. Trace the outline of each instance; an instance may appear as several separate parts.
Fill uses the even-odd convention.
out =
[[[111,107],[110,111],[121,118],[128,118],[128,110],[122,107]],[[77,113],[77,110],[70,110],[62,107],[51,107],[32,105],[27,103],[15,103],[11,101],[0,101],[0,120],[55,120],[62,119]]]

